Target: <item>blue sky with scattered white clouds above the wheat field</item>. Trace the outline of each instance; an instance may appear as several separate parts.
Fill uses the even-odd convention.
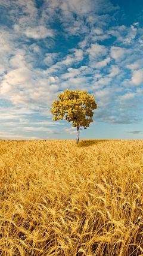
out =
[[[98,107],[80,140],[143,140],[142,0],[0,0],[0,138],[76,140],[58,94]]]

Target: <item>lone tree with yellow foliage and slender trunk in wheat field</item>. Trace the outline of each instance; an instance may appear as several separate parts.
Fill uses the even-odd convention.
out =
[[[64,91],[64,94],[59,94],[58,98],[51,105],[52,109],[50,110],[54,115],[52,120],[57,121],[58,119],[63,120],[65,113],[66,119],[68,122],[73,121],[72,126],[77,127],[77,138],[76,143],[79,142],[79,127],[89,127],[89,123],[93,122],[92,116],[94,112],[91,110],[97,109],[97,104],[95,103],[94,95],[91,96],[87,94],[86,91]],[[82,107],[84,105],[84,107]],[[86,118],[90,116],[90,118]]]

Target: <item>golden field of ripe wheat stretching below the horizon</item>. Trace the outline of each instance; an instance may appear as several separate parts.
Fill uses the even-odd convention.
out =
[[[1,256],[143,255],[143,140],[0,141]]]

